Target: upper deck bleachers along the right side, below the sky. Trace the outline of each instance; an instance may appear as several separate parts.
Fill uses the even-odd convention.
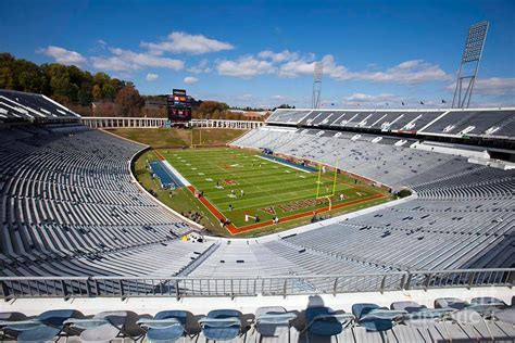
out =
[[[276,110],[266,120],[286,126],[363,128],[447,136],[513,138],[515,110]]]

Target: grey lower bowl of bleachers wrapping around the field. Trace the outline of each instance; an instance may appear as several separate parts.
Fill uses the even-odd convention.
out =
[[[294,113],[278,111],[272,119],[288,122]],[[311,123],[318,123],[318,114]],[[363,125],[373,118],[357,112],[352,116]],[[423,118],[417,116],[381,120],[388,119],[391,127],[394,120],[405,126]],[[470,112],[456,125],[463,127],[476,117]],[[507,123],[495,115],[488,117]],[[183,241],[196,228],[158,204],[130,174],[129,162],[147,147],[88,130],[76,122],[0,128],[0,277],[193,278],[181,283],[186,292],[212,292],[211,283],[204,281],[219,279],[216,294],[233,292],[235,285],[227,280],[291,277],[289,289],[306,293],[321,288],[297,276],[514,267],[515,170],[420,150],[413,138],[329,130],[305,123],[300,128],[254,129],[231,145],[338,163],[344,170],[394,190],[411,188],[413,199],[322,223],[316,230],[263,239]],[[489,125],[476,126],[482,130]],[[269,282],[261,287],[274,294],[286,289],[286,281]],[[156,292],[153,284],[129,284],[129,290],[143,294]],[[40,291],[37,285],[26,290],[34,287]],[[339,287],[361,288],[346,280]],[[111,284],[103,290],[121,289]],[[25,289],[15,284],[1,290],[12,294]]]

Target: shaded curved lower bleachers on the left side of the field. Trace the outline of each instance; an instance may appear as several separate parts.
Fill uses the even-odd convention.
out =
[[[192,228],[131,180],[143,147],[100,131],[23,137],[0,144],[3,275],[169,276],[209,247],[177,244]]]

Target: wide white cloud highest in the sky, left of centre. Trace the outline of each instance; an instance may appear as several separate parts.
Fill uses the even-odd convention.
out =
[[[166,40],[161,42],[143,41],[141,47],[150,50],[153,54],[163,52],[201,54],[234,49],[233,45],[225,41],[180,31],[169,34]]]

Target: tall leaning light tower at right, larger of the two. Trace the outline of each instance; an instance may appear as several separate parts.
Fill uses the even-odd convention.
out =
[[[465,109],[470,104],[472,91],[479,69],[479,62],[481,62],[482,48],[487,39],[488,25],[488,22],[481,22],[474,24],[468,29],[452,99],[453,109]]]

